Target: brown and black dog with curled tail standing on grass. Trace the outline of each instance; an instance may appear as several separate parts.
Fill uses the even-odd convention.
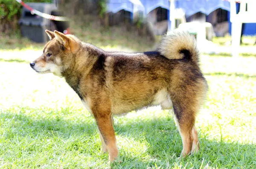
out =
[[[180,157],[199,150],[195,117],[207,94],[195,38],[174,31],[155,52],[106,52],[74,35],[45,31],[49,42],[30,63],[40,74],[64,77],[96,120],[102,152],[118,158],[113,115],[161,105],[173,109],[183,143]]]

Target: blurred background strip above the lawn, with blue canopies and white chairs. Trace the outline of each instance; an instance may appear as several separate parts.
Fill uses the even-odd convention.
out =
[[[238,47],[256,41],[253,0],[2,0],[0,6],[0,48],[40,46],[33,42],[47,42],[45,29],[131,51],[156,49],[160,35],[174,29],[194,34],[208,54],[250,52]],[[16,45],[20,37],[29,41]]]

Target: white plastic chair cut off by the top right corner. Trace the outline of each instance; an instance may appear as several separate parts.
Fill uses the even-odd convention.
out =
[[[247,11],[246,11],[247,3]],[[256,0],[241,0],[239,13],[236,14],[236,0],[230,0],[230,22],[232,36],[232,55],[239,56],[242,23],[256,23]]]

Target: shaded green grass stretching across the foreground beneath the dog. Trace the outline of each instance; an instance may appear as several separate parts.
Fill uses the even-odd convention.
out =
[[[31,109],[31,108],[26,108]],[[32,111],[36,109],[32,109]],[[26,110],[24,110],[26,111]],[[42,111],[42,110],[40,110]],[[44,110],[43,110],[44,111]],[[56,137],[57,140],[65,140],[70,137],[78,137],[78,141],[69,146],[71,151],[79,150],[78,146],[85,144],[85,147],[90,147],[89,150],[81,150],[81,153],[94,156],[92,152],[99,152],[100,146],[90,146],[96,140],[91,140],[97,134],[96,123],[92,117],[87,117],[88,121],[79,119],[65,119],[65,115],[57,115],[51,110],[53,117],[46,118],[45,115],[25,115],[25,112],[20,111],[15,114],[9,111],[1,112],[1,126],[3,123],[13,121],[10,124],[9,132],[6,131],[6,136],[9,137]],[[75,114],[75,113],[74,113]],[[38,116],[35,117],[34,116]],[[111,167],[119,168],[148,168],[156,165],[162,168],[177,166],[193,166],[200,168],[203,166],[214,166],[218,168],[254,168],[256,167],[256,146],[251,144],[241,144],[238,142],[224,143],[223,141],[209,140],[207,136],[199,131],[200,148],[201,150],[196,155],[191,155],[182,160],[177,160],[182,150],[182,142],[179,133],[176,129],[172,115],[169,117],[159,117],[151,120],[143,120],[141,118],[128,120],[123,123],[125,117],[115,117],[116,135],[119,137],[128,138],[138,143],[144,143],[146,146],[143,155],[131,154],[128,150],[120,149],[121,163],[112,163]],[[17,130],[17,131],[16,131]],[[12,132],[12,133],[11,133]],[[52,134],[51,134],[52,133]],[[98,136],[97,136],[98,137]],[[23,139],[24,139],[23,138]],[[82,138],[88,138],[88,142],[79,142]],[[86,140],[88,140],[86,139]],[[22,140],[22,139],[21,139]],[[99,143],[99,139],[97,140]],[[122,143],[124,145],[125,143]],[[129,143],[128,143],[129,144]],[[132,144],[132,143],[131,143]],[[133,145],[133,144],[132,144]],[[136,146],[136,145],[135,145]],[[128,146],[129,147],[129,146]],[[11,148],[11,147],[10,147]],[[131,147],[132,148],[132,147]],[[87,148],[88,149],[88,148]],[[105,155],[103,155],[105,157]]]

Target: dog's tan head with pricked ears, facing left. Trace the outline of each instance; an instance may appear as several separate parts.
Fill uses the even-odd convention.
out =
[[[43,54],[30,63],[32,69],[40,74],[53,73],[62,77],[62,72],[73,62],[74,54],[79,50],[80,41],[73,35],[58,31],[48,31],[50,41],[44,46]]]

